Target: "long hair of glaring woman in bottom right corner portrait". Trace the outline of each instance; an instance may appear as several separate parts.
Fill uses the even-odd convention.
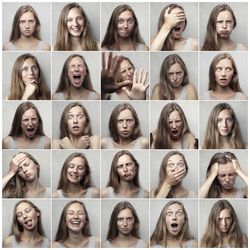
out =
[[[205,234],[201,239],[201,247],[224,247],[223,235],[219,230],[219,216],[220,212],[224,209],[229,210],[232,218],[231,228],[227,232],[227,245],[229,245],[229,247],[231,248],[244,247],[244,234],[241,232],[239,221],[234,211],[234,208],[227,200],[218,200],[214,203],[208,217],[208,223],[205,229]]]

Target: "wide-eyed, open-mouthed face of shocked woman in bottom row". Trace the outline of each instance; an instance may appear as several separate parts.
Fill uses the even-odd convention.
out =
[[[170,205],[166,211],[165,222],[168,232],[173,236],[177,236],[185,224],[185,214],[182,206],[177,203]]]

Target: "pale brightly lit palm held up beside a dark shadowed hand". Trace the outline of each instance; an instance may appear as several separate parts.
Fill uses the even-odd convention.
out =
[[[133,85],[131,89],[127,89],[123,87],[122,90],[127,94],[127,96],[131,100],[145,100],[146,99],[146,91],[148,88],[148,84],[146,84],[148,76],[148,71],[144,69],[135,70],[133,76]]]

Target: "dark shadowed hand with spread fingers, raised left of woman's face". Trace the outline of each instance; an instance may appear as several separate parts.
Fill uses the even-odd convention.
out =
[[[116,92],[118,89],[130,86],[131,81],[117,83],[115,81],[116,71],[122,61],[122,56],[112,57],[112,52],[109,52],[108,63],[106,65],[105,53],[102,53],[102,72],[101,72],[101,90],[102,94]]]

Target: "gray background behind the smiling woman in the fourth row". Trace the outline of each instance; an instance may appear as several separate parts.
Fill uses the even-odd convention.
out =
[[[66,158],[72,153],[83,153],[90,166],[93,186],[100,188],[100,152],[99,150],[53,150],[52,151],[52,191],[57,190],[57,185],[61,176],[61,170]]]

